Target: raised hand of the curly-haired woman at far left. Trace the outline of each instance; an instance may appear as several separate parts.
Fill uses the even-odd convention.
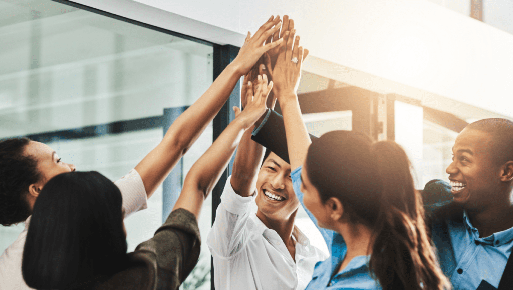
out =
[[[271,16],[255,35],[251,37],[251,33],[248,32],[244,45],[232,63],[241,76],[246,75],[264,53],[283,42],[283,39],[278,39],[275,42],[264,45],[269,37],[275,32],[280,31],[281,24],[280,16],[274,19]]]

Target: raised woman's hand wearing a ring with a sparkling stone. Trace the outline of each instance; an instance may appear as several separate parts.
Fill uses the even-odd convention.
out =
[[[293,41],[294,34],[295,29],[285,32],[284,39],[287,39],[287,42],[280,45],[276,65],[272,71],[269,71],[274,81],[274,95],[280,103],[284,97],[295,95],[301,79],[304,51],[299,46],[299,36],[296,36]]]

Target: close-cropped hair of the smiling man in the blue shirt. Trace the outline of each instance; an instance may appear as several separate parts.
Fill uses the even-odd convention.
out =
[[[513,122],[502,118],[483,119],[471,123],[466,129],[478,130],[491,135],[492,155],[501,165],[513,161]]]

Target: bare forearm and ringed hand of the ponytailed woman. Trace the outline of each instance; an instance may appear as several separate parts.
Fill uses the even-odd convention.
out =
[[[294,29],[290,33],[285,33],[284,39],[287,39],[287,42],[280,45],[280,54],[272,70],[274,93],[283,113],[287,149],[292,170],[303,164],[311,143],[303,122],[296,93],[301,78],[304,53],[303,48],[299,47],[299,36],[295,37],[293,44],[294,34]]]

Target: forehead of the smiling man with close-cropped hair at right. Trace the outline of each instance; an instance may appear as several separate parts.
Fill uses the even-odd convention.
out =
[[[461,150],[469,150],[473,154],[489,154],[491,153],[492,136],[489,133],[464,129],[456,138],[456,142],[452,151],[457,153]]]

